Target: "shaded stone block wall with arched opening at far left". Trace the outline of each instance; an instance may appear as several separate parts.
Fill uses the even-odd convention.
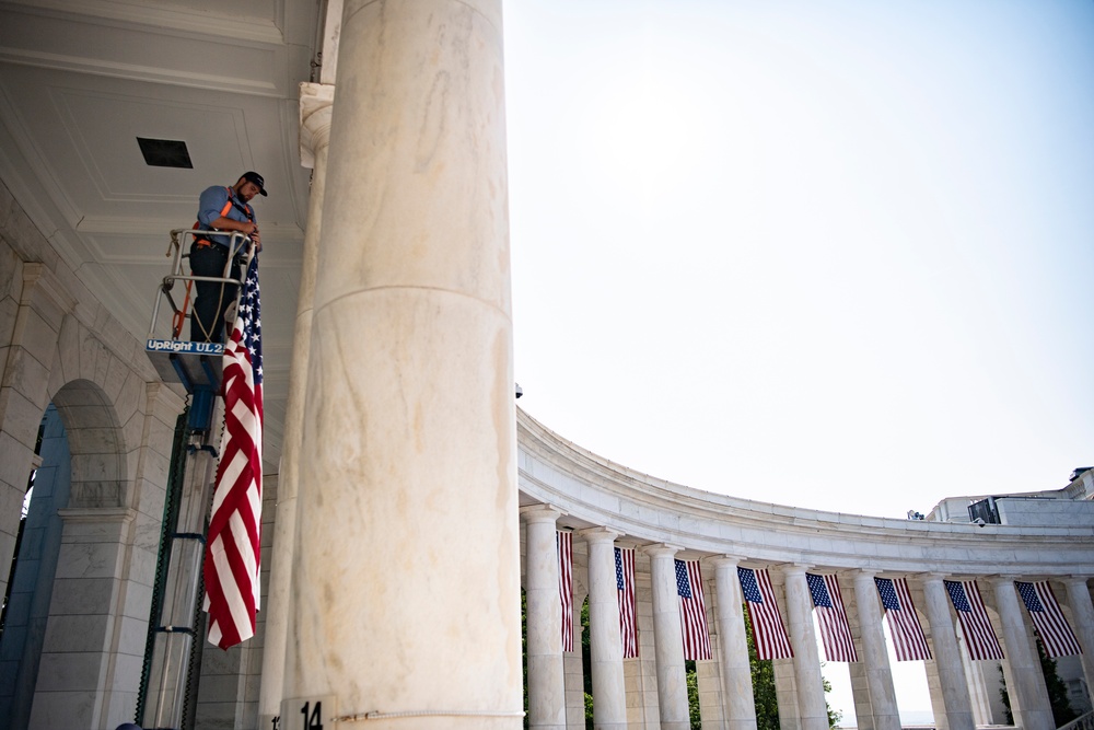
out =
[[[32,581],[53,583],[37,671],[26,664],[33,684],[24,674],[11,702],[30,706],[30,727],[114,728],[136,709],[183,398],[0,185],[0,565],[50,403],[69,445],[69,495],[56,505],[55,575]]]

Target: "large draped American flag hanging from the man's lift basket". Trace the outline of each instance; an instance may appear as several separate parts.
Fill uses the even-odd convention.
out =
[[[251,259],[224,346],[224,437],[205,556],[209,641],[228,649],[255,635],[263,511],[263,318],[258,257]]]

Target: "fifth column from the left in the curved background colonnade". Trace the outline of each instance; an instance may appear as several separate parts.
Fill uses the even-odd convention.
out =
[[[813,598],[805,580],[808,566],[784,566],[787,613],[790,644],[794,647],[794,680],[798,685],[798,710],[802,730],[828,730],[828,709],[824,700],[821,656],[813,630]]]

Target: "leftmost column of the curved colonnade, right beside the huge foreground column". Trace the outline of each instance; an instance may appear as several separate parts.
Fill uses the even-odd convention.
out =
[[[558,594],[557,520],[547,505],[521,509],[524,520],[524,598],[528,658],[528,726],[566,728],[562,606]]]

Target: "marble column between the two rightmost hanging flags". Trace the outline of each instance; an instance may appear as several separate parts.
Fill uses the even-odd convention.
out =
[[[1040,658],[1029,630],[1026,628],[1025,611],[1020,604],[1014,587],[1014,576],[1001,576],[990,580],[996,595],[996,610],[1003,640],[1003,651],[1011,673],[1006,690],[1011,696],[1011,712],[1014,723],[1023,730],[1055,730],[1052,705],[1048,699],[1045,674],[1040,670]]]

